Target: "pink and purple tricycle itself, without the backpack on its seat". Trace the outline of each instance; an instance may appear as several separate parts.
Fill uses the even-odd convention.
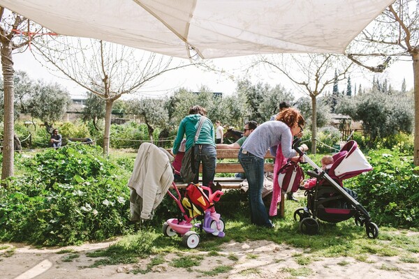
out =
[[[224,237],[224,228],[225,223],[224,220],[221,218],[219,213],[216,213],[214,209],[213,201],[218,200],[223,192],[220,190],[216,190],[212,193],[212,188],[207,186],[200,186],[203,190],[207,190],[208,195],[207,198],[212,204],[208,209],[203,211],[202,215],[190,217],[182,204],[182,195],[179,192],[175,182],[172,182],[173,189],[175,189],[177,197],[168,191],[168,195],[175,200],[177,206],[180,209],[180,216],[179,218],[171,218],[168,219],[165,223],[163,223],[163,234],[165,236],[181,236],[182,237],[182,244],[187,248],[196,248],[200,243],[200,236],[197,232],[191,230],[193,227],[192,221],[193,220],[201,220],[201,223],[195,224],[195,227],[200,229],[200,232],[206,232],[207,234],[212,234],[218,237]]]

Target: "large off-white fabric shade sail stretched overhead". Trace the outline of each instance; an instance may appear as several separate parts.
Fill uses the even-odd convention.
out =
[[[0,6],[62,35],[170,56],[218,58],[344,53],[394,1],[0,0]]]

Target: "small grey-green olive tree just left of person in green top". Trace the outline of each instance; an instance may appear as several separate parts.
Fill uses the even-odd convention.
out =
[[[168,123],[169,116],[165,103],[166,100],[153,98],[135,99],[128,103],[128,112],[140,116],[139,118],[147,125],[150,142],[154,142],[155,128],[166,128]]]

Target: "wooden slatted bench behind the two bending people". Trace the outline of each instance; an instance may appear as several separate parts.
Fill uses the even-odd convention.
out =
[[[168,150],[170,152],[170,150]],[[242,165],[238,162],[239,149],[216,149],[216,174],[228,173],[235,174],[237,172],[244,172]],[[268,151],[265,155],[265,159],[273,159],[274,157]],[[219,161],[222,159],[235,159],[234,162],[226,162],[226,160]],[[265,172],[274,172],[274,163],[265,162]],[[200,173],[202,173],[202,165],[200,165]],[[240,189],[241,183],[244,179],[238,177],[214,177],[214,183],[219,182],[223,189]],[[202,181],[202,177],[200,177]],[[186,183],[176,183],[178,188],[185,188]],[[272,197],[272,195],[269,195]],[[270,200],[269,200],[270,202]],[[281,193],[281,203],[279,204],[279,216],[284,217],[284,193]]]

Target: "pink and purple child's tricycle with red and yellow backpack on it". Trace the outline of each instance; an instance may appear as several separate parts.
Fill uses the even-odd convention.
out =
[[[180,214],[178,218],[168,219],[163,224],[163,234],[165,236],[182,236],[182,244],[188,248],[196,248],[200,241],[197,232],[192,231],[192,220],[198,220],[196,223],[200,232],[224,237],[224,221],[219,213],[214,209],[214,202],[218,202],[223,192],[221,188],[212,185],[199,186],[198,184],[189,183],[183,197],[179,192],[175,182],[172,183],[177,197],[168,191],[168,195],[175,199],[179,206]],[[214,192],[213,192],[214,191]],[[205,193],[206,192],[206,193]]]

